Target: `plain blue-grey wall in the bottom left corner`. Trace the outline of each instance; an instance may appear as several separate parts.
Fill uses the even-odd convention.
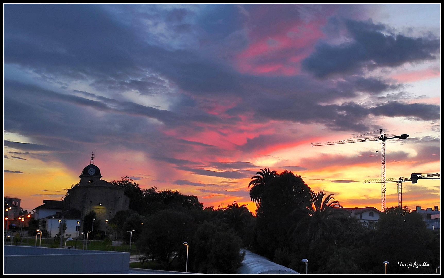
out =
[[[128,274],[129,261],[123,252],[4,246],[4,274]]]

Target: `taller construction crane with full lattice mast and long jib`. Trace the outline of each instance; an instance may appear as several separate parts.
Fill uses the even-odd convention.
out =
[[[376,131],[372,131],[363,135],[367,135]],[[337,145],[337,144],[346,144],[346,143],[357,143],[357,142],[367,142],[367,141],[376,141],[381,140],[381,211],[385,211],[385,140],[388,139],[407,139],[408,134],[401,134],[400,136],[386,134],[382,129],[379,130],[380,136],[378,137],[370,137],[370,138],[361,138],[361,139],[353,139],[356,137],[360,137],[363,135],[355,136],[350,138],[349,140],[335,141],[335,142],[326,142],[326,143],[311,143],[312,147],[316,146],[325,146],[325,145]],[[387,135],[392,137],[387,137]]]

